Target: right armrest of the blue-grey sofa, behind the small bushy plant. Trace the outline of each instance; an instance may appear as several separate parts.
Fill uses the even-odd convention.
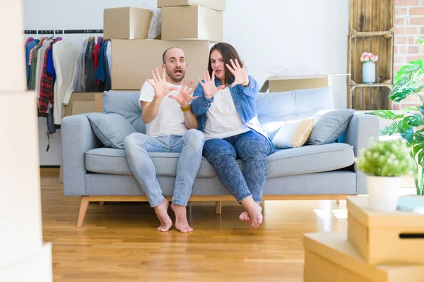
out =
[[[355,157],[358,157],[360,151],[368,145],[371,140],[377,141],[379,137],[379,118],[366,114],[353,115],[348,129],[341,142],[348,143],[353,146]],[[367,194],[367,186],[365,183],[365,174],[358,171],[356,164],[354,164],[356,173],[356,194]]]

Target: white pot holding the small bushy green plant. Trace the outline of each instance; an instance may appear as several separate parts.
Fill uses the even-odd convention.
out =
[[[395,212],[401,192],[400,177],[367,176],[369,208],[379,212]]]

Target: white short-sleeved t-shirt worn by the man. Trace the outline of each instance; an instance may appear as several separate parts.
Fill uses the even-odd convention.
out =
[[[153,80],[151,80],[153,82]],[[178,90],[171,91],[167,96],[163,97],[159,106],[158,116],[146,125],[146,134],[152,137],[163,135],[184,135],[187,127],[184,123],[184,114],[175,99],[168,97],[169,95],[177,95],[182,85],[173,85],[167,82],[170,87],[178,87]],[[155,97],[155,89],[147,81],[144,82],[140,90],[139,101],[152,102]],[[141,104],[141,103],[140,103]]]

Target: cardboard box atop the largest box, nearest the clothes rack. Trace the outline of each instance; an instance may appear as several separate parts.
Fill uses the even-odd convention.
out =
[[[134,7],[106,8],[103,11],[105,39],[146,39],[153,13]]]

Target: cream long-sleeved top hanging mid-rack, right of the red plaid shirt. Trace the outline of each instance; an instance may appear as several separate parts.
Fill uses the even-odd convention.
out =
[[[78,46],[72,42],[59,41],[54,44],[53,63],[56,71],[54,83],[54,124],[60,124],[64,104],[69,103],[73,92],[73,79],[76,75]]]

